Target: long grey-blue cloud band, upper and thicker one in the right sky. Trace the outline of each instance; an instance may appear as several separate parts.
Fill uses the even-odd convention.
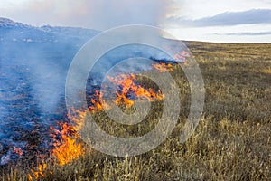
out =
[[[243,12],[226,12],[210,17],[191,20],[183,17],[170,17],[168,24],[204,27],[204,26],[231,26],[240,24],[271,24],[271,9],[251,9]]]

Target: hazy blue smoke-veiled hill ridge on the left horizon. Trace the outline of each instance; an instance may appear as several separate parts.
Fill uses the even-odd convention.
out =
[[[50,25],[35,27],[0,17],[0,43],[57,43],[64,42],[67,39],[76,39],[80,42],[89,40],[98,33],[97,30],[76,27],[54,27]]]

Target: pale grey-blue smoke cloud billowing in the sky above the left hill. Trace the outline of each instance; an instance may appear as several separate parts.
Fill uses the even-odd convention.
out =
[[[30,24],[81,26],[104,30],[125,24],[157,25],[165,17],[165,0],[28,0],[0,15]]]

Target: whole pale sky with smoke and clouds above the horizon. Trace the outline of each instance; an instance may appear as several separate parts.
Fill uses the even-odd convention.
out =
[[[149,24],[180,40],[271,43],[271,0],[0,0],[0,17],[98,30]]]

